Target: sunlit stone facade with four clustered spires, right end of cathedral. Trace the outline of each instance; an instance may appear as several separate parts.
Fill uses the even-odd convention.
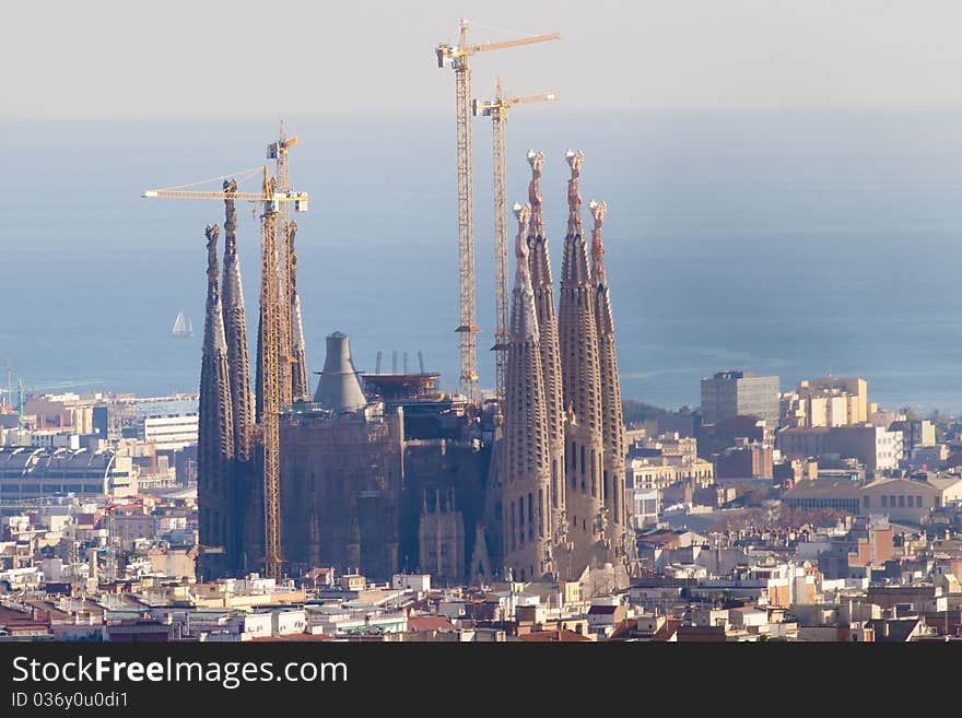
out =
[[[624,427],[614,322],[602,256],[603,203],[590,203],[590,252],[568,152],[568,221],[558,313],[541,216],[543,156],[529,153],[529,204],[518,219],[504,421],[489,485],[489,561],[505,578],[626,584],[635,543],[625,501]],[[589,254],[591,262],[589,263]],[[495,535],[491,535],[495,534]],[[498,570],[500,569],[500,570]]]

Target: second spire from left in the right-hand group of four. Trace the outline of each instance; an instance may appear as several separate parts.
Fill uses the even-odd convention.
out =
[[[535,308],[538,315],[538,330],[541,344],[541,375],[544,379],[544,398],[548,414],[548,436],[551,445],[551,511],[552,525],[563,529],[565,482],[564,482],[564,403],[562,401],[561,354],[558,345],[558,318],[554,313],[554,286],[551,281],[551,257],[548,252],[548,236],[541,211],[541,167],[544,155],[528,151],[531,165],[531,181],[528,185],[528,201],[531,214],[528,221],[528,267],[531,272],[531,289],[535,292]]]

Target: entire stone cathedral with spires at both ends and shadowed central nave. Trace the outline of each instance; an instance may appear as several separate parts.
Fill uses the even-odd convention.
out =
[[[636,566],[603,203],[582,224],[582,154],[567,153],[567,231],[555,302],[541,209],[543,156],[529,153],[528,204],[516,205],[515,280],[503,404],[476,407],[437,374],[362,375],[349,338],[327,337],[308,399],[296,289],[293,402],[280,422],[285,572],[336,566],[438,585],[497,579],[625,586]],[[231,188],[225,185],[225,190]],[[199,575],[243,575],[263,560],[263,450],[250,367],[235,211],[225,201],[223,285],[209,227],[200,387]],[[296,287],[296,283],[294,284]],[[221,293],[223,291],[223,294]],[[256,391],[254,392],[256,396]]]

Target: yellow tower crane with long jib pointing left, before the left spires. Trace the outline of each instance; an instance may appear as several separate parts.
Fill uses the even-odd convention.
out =
[[[268,174],[267,165],[254,170],[244,170],[239,176],[250,176],[260,170],[260,192],[238,191],[199,191],[187,190],[191,185],[181,185],[171,189],[149,189],[143,192],[146,198],[165,199],[226,199],[258,202],[263,211],[260,215],[260,376],[262,380],[263,408],[261,411],[261,435],[263,439],[263,567],[268,578],[282,577],[283,558],[281,556],[281,476],[280,476],[280,366],[281,354],[281,262],[278,255],[278,213],[285,202],[294,202],[295,212],[307,210],[308,196],[291,189],[279,190],[277,183]],[[215,177],[216,180],[228,176]],[[213,180],[203,180],[213,181]],[[290,372],[288,373],[290,374]]]

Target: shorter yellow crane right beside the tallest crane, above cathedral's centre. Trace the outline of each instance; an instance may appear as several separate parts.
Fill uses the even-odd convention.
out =
[[[501,78],[495,83],[494,99],[476,99],[471,111],[477,117],[483,115],[491,118],[492,148],[494,152],[494,292],[495,320],[494,331],[495,377],[497,400],[504,405],[504,382],[507,372],[507,172],[505,169],[505,123],[507,110],[519,105],[543,103],[558,99],[553,92],[542,92],[526,97],[505,97],[501,91]]]

